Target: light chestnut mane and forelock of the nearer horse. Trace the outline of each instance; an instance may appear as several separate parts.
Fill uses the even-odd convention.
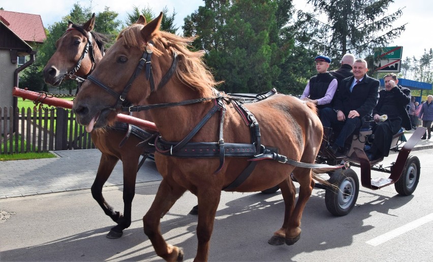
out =
[[[129,47],[140,48],[144,52],[147,43],[141,41],[140,30],[142,24],[133,24],[123,29],[117,36],[117,40],[123,39],[123,44]],[[179,80],[197,90],[204,97],[213,96],[213,88],[221,82],[215,81],[209,68],[203,61],[204,51],[191,51],[188,47],[195,37],[181,37],[170,32],[158,31],[152,39],[154,46],[153,54],[161,56],[162,49],[176,52],[179,62],[175,71]]]

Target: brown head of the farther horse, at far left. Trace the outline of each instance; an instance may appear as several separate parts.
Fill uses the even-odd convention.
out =
[[[47,84],[57,86],[64,79],[85,78],[95,68],[102,59],[108,39],[92,31],[94,27],[95,13],[81,26],[69,21],[66,32],[55,43],[56,51],[43,70]]]

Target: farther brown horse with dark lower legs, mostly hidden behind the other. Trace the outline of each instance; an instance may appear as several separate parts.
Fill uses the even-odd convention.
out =
[[[145,24],[144,16],[141,16],[137,23]],[[59,85],[64,79],[84,80],[96,68],[103,57],[104,44],[107,39],[104,35],[92,31],[94,26],[95,14],[82,26],[69,23],[65,34],[56,42],[55,53],[45,65],[43,73],[47,84]],[[134,116],[150,119],[149,114],[140,113]],[[143,154],[143,148],[137,145],[143,139],[131,135],[120,147],[120,143],[126,137],[126,127],[119,124],[114,128],[87,128],[87,131],[91,132],[93,143],[102,153],[95,182],[91,186],[91,193],[105,214],[117,223],[111,228],[107,237],[120,238],[123,230],[131,225],[135,181],[139,169],[139,158]],[[144,160],[146,155],[144,154],[143,157]],[[123,164],[123,215],[121,212],[114,211],[102,194],[102,188],[119,159]]]

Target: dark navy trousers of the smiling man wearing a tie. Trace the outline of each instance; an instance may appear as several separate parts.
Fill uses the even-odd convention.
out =
[[[356,128],[361,127],[362,121],[360,117],[348,118],[346,116],[345,121],[338,121],[337,113],[332,108],[324,108],[320,111],[320,121],[323,127],[331,127],[340,125],[342,127],[341,132],[335,139],[335,145],[344,147],[344,143],[350,135],[355,131]]]

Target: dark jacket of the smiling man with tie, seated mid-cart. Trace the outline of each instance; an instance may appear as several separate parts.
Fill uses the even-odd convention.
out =
[[[365,115],[371,115],[378,103],[380,82],[365,74],[362,81],[355,85],[351,92],[350,86],[354,78],[354,76],[345,78],[338,85],[333,108],[342,110],[346,116],[350,111],[356,110],[359,117],[362,118]]]

